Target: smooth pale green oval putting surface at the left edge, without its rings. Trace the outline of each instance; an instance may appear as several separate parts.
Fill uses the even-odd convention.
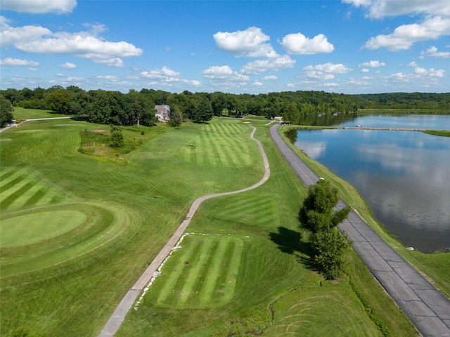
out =
[[[63,210],[14,216],[0,223],[0,247],[25,246],[57,237],[82,225],[87,219],[81,211]]]

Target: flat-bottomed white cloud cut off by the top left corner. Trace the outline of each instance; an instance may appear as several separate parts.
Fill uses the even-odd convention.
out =
[[[25,13],[70,13],[77,0],[1,0],[3,10]]]

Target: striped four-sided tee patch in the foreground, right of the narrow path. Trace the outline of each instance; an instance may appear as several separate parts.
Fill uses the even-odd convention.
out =
[[[169,308],[210,308],[233,298],[244,242],[219,235],[189,235],[172,254],[148,299]],[[166,272],[170,270],[170,272]]]

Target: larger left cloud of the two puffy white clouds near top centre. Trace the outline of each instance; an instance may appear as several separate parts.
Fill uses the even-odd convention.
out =
[[[236,32],[217,32],[212,37],[216,41],[217,48],[238,57],[270,58],[277,55],[271,44],[266,43],[270,37],[258,27],[249,27]]]

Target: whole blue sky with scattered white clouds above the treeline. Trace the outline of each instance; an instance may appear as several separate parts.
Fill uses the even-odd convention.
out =
[[[0,6],[2,89],[450,91],[448,0]]]

